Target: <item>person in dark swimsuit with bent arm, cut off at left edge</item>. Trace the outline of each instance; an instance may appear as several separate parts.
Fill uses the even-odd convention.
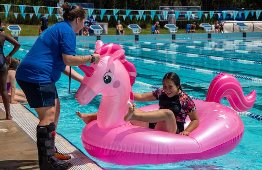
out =
[[[15,47],[14,49],[6,56],[3,54],[3,45],[4,41],[8,41],[11,44],[13,44]],[[12,38],[11,36],[0,32],[0,95],[2,96],[5,114],[7,120],[11,120],[12,116],[10,114],[10,107],[9,107],[9,95],[7,91],[7,66],[11,63],[11,57],[17,52],[17,50],[20,48],[20,44]]]

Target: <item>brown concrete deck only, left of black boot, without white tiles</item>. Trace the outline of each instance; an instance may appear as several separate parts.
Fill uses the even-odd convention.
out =
[[[0,170],[39,170],[35,141],[0,109]]]

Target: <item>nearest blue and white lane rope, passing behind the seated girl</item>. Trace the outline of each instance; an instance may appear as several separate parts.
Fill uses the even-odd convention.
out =
[[[158,89],[160,87],[156,86],[156,85],[149,85],[147,83],[143,83],[143,82],[140,82],[140,81],[135,81],[136,84],[138,85],[142,85],[142,86],[146,86],[148,88],[152,88],[152,89]],[[190,96],[193,100],[202,100],[203,99],[200,99],[200,98],[196,98],[196,97],[192,97]],[[233,109],[232,107],[230,107],[231,109]],[[233,109],[234,110],[234,109]],[[235,111],[235,110],[234,110]],[[250,112],[237,112],[235,111],[237,114],[239,115],[244,115],[244,116],[247,116],[247,117],[250,117],[250,118],[253,118],[253,119],[257,119],[259,121],[262,121],[262,115],[257,115],[257,114],[254,114],[254,113],[250,113]]]

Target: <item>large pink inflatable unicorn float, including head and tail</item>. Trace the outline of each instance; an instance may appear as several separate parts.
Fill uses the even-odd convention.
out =
[[[82,143],[90,155],[120,165],[174,163],[219,156],[232,151],[241,141],[241,118],[220,101],[226,97],[235,110],[243,112],[253,106],[256,91],[245,97],[232,75],[219,74],[210,84],[206,101],[194,100],[200,124],[190,136],[161,132],[124,121],[128,102],[133,101],[136,69],[126,61],[119,45],[104,45],[99,40],[95,47],[101,60],[96,65],[79,66],[85,77],[76,93],[82,105],[102,93],[98,119],[88,123],[82,132]],[[158,104],[140,109],[157,110]],[[187,118],[185,127],[189,122]]]

